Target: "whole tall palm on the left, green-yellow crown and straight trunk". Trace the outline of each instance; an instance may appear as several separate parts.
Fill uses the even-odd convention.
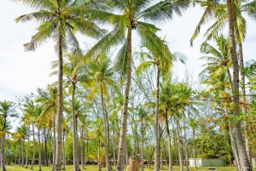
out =
[[[62,77],[63,77],[63,51],[67,52],[67,44],[78,47],[79,42],[74,36],[75,31],[79,31],[90,37],[102,37],[104,31],[101,30],[90,20],[84,20],[80,13],[79,0],[51,1],[40,0],[17,0],[27,3],[32,8],[39,9],[38,12],[24,14],[16,18],[17,22],[25,22],[35,19],[40,22],[38,32],[32,36],[31,42],[25,44],[26,51],[35,50],[46,39],[52,37],[55,41],[55,50],[58,53],[59,74],[58,74],[58,111],[57,111],[57,145],[56,145],[56,170],[61,171],[61,148],[62,148],[62,119],[63,119],[63,95],[62,95]]]

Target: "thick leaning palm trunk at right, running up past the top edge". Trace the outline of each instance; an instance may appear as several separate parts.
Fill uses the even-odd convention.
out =
[[[232,98],[232,102],[234,103],[234,115],[237,116],[239,114],[239,68],[238,61],[236,56],[236,42],[234,35],[234,13],[232,9],[232,0],[227,1],[228,4],[228,15],[229,15],[229,32],[230,32],[230,54],[232,58],[232,66],[233,66],[233,85],[234,85],[234,95]],[[251,165],[247,157],[246,147],[241,134],[241,122],[238,121],[235,126],[236,133],[236,143],[238,154],[241,162],[242,171],[251,171]]]

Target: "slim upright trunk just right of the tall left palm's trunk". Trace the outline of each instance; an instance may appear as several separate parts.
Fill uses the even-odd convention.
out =
[[[73,171],[79,171],[79,158],[78,158],[78,130],[77,130],[77,117],[74,111],[74,95],[76,85],[73,83],[72,94],[72,118],[73,118]]]

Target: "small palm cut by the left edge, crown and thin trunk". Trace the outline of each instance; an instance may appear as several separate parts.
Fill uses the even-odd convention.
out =
[[[18,117],[14,110],[15,103],[7,100],[0,101],[0,117],[3,118],[3,128],[1,132],[3,135],[1,136],[1,167],[2,170],[5,171],[4,166],[4,143],[5,143],[5,131],[6,131],[6,123],[8,122],[9,117]]]

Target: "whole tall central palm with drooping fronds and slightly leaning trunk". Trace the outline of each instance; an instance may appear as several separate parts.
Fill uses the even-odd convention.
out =
[[[101,41],[91,48],[85,56],[93,56],[94,54],[102,54],[102,50],[108,50],[110,47],[119,46],[122,44],[119,53],[115,60],[116,70],[126,75],[125,93],[123,113],[121,119],[121,130],[119,136],[119,153],[117,170],[121,171],[124,168],[125,161],[125,137],[127,129],[127,110],[129,91],[131,86],[131,35],[132,30],[136,30],[142,41],[149,38],[159,42],[160,38],[155,35],[160,29],[145,21],[164,22],[167,19],[172,19],[173,11],[181,15],[183,10],[187,9],[188,1],[162,1],[152,4],[149,0],[113,0],[110,2],[113,7],[113,12],[121,12],[113,14],[99,10],[86,10],[90,13],[91,20],[97,20],[101,23],[108,23],[113,26],[113,31],[110,31]],[[97,17],[101,15],[101,17]],[[158,158],[158,157],[156,157]],[[155,171],[159,170],[158,162],[155,163]]]

